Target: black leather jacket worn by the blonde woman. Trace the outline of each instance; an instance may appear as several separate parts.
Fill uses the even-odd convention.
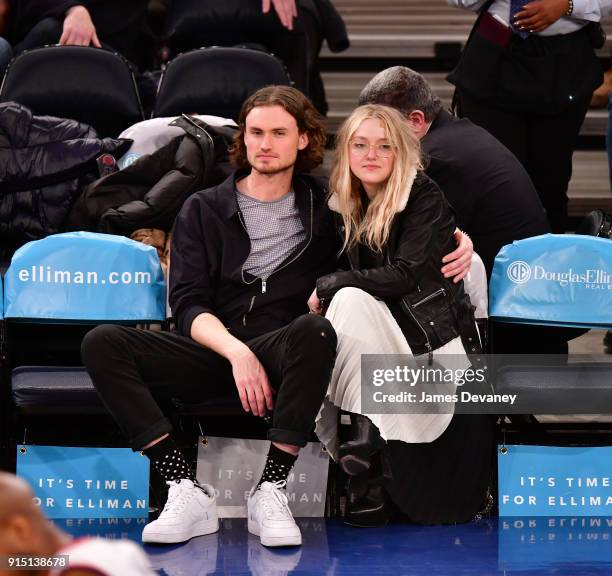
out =
[[[337,206],[334,197],[329,206]],[[339,215],[337,223],[343,238]],[[317,295],[325,306],[342,288],[355,287],[384,300],[413,354],[431,357],[433,350],[459,335],[460,316],[471,312],[463,282],[453,284],[440,272],[442,257],[455,249],[454,231],[455,218],[444,194],[418,172],[393,219],[383,251],[385,264],[360,268],[359,248],[354,246],[343,258],[349,269],[319,278]]]

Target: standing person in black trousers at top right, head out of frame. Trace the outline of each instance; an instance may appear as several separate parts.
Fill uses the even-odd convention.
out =
[[[458,110],[525,166],[551,230],[567,230],[572,155],[591,95],[601,85],[594,51],[611,0],[448,0],[481,12],[448,76]]]

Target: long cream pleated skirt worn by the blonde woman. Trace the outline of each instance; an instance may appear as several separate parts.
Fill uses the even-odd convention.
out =
[[[361,355],[412,352],[387,305],[363,290],[343,288],[338,291],[325,316],[336,330],[338,348],[315,432],[332,458],[336,459],[339,411],[364,414],[361,409]],[[459,337],[435,350],[434,361],[452,369],[466,369],[470,365]],[[445,384],[445,387],[450,394],[456,390],[454,383]],[[429,407],[428,411],[435,410]],[[365,416],[377,426],[383,439],[416,443],[432,442],[438,438],[450,423],[453,411],[454,406],[446,404],[433,414],[366,412]]]

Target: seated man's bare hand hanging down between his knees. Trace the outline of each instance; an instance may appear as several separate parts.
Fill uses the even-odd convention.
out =
[[[230,362],[245,412],[265,416],[274,407],[274,392],[261,362],[246,345],[232,355]]]

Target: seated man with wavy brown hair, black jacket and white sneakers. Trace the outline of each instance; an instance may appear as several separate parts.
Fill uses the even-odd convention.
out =
[[[170,486],[144,542],[218,529],[214,489],[196,482],[158,401],[228,394],[272,420],[263,475],[247,503],[249,531],[266,546],[302,541],[283,488],[334,364],[336,334],[306,303],[316,279],[334,269],[336,243],[324,186],[297,172],[321,163],[325,131],[310,101],[285,86],[253,94],[239,125],[238,170],[191,196],[175,223],[170,306],[178,334],[104,325],[83,341],[102,401]]]

